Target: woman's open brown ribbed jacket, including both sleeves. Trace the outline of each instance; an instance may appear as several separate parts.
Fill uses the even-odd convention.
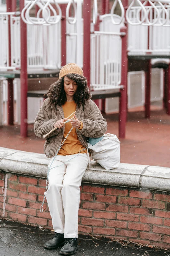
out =
[[[107,130],[107,122],[103,118],[97,105],[90,99],[85,102],[84,107],[76,107],[76,117],[83,122],[82,130],[76,129],[79,141],[84,147],[87,147],[87,138],[99,138],[103,136]],[[62,106],[50,103],[47,98],[34,121],[35,134],[43,138],[43,135],[50,132],[54,124],[64,118]],[[64,127],[56,129],[46,137],[44,144],[44,153],[48,158],[55,156],[59,146],[61,145]],[[92,152],[90,149],[89,152]]]

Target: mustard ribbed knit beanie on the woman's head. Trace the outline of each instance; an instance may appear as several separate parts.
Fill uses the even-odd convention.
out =
[[[70,73],[83,76],[83,70],[78,65],[76,65],[75,63],[69,63],[61,68],[59,73],[59,79]]]

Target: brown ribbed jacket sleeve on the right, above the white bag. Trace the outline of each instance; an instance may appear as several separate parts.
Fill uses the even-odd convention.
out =
[[[80,132],[82,135],[89,138],[99,138],[103,136],[107,130],[107,122],[93,101],[90,103],[90,109],[88,112],[88,118],[81,120],[83,128]]]

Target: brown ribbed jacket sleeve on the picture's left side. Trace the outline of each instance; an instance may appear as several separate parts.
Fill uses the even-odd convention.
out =
[[[55,119],[49,119],[48,112],[46,111],[46,100],[43,102],[40,110],[34,121],[34,132],[36,136],[43,138],[43,136],[50,132],[54,128],[54,124],[57,122]],[[62,129],[56,129],[51,132],[46,138],[50,138],[61,132]]]

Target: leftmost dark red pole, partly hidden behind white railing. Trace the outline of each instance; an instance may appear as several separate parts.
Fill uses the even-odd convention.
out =
[[[7,12],[12,11],[12,0],[7,0]],[[11,66],[11,20],[8,16],[8,49],[9,49],[9,66]],[[14,124],[14,108],[13,108],[13,79],[8,78],[8,124]]]

